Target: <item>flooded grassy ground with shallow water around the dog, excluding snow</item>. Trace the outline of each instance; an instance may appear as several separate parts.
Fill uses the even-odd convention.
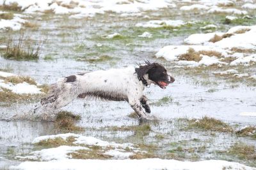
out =
[[[180,45],[189,34],[204,32],[198,29],[208,24],[220,25],[220,31],[227,31],[233,25],[223,24],[225,15],[180,15],[179,11],[159,11],[145,13],[144,17],[119,17],[113,13],[97,15],[93,18],[70,20],[63,15],[32,15],[29,22],[38,24],[38,28],[27,28],[25,35],[42,43],[40,59],[37,61],[15,61],[0,57],[0,69],[23,76],[31,76],[39,83],[51,84],[58,78],[80,72],[110,67],[136,66],[143,60],[161,62],[172,73],[176,81],[166,90],[152,85],[145,89],[145,94],[152,105],[152,115],[159,122],[152,123],[148,134],[136,135],[132,131],[113,131],[107,127],[138,125],[138,120],[129,118],[132,112],[125,102],[83,101],[76,100],[63,108],[81,115],[78,125],[85,127],[81,134],[117,142],[135,144],[154,144],[154,153],[161,158],[181,160],[225,159],[256,166],[255,160],[243,160],[226,155],[223,151],[234,143],[256,145],[255,139],[240,138],[232,133],[198,131],[184,129],[186,121],[179,118],[218,118],[234,128],[244,125],[255,125],[256,117],[244,117],[242,112],[256,111],[255,81],[244,82],[239,79],[228,81],[216,77],[214,71],[225,68],[177,67],[164,59],[156,59],[154,54],[163,46]],[[144,16],[144,15],[143,15]],[[200,20],[199,24],[172,28],[141,28],[134,25],[154,19],[182,19],[185,21]],[[244,25],[255,24],[255,19]],[[139,38],[138,35],[148,31],[152,38]],[[106,39],[104,36],[120,33],[119,38]],[[1,32],[1,41],[10,37],[19,37],[19,32]],[[95,60],[96,59],[96,60]],[[227,67],[228,69],[228,67]],[[243,68],[243,71],[256,71],[256,67]],[[163,101],[167,97],[167,101]],[[34,103],[21,101],[10,106],[0,107],[0,118],[8,118],[17,113],[26,112]],[[18,164],[13,159],[17,153],[28,153],[34,150],[31,141],[37,136],[55,134],[52,122],[0,121],[0,168]],[[163,138],[157,138],[161,134]],[[172,150],[178,146],[180,152]],[[186,149],[194,148],[193,152]],[[199,148],[202,148],[200,150]]]

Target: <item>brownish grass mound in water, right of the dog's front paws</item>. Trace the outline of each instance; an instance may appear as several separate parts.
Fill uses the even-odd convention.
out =
[[[230,125],[216,118],[203,117],[198,120],[189,120],[189,129],[202,129],[207,131],[232,132]]]

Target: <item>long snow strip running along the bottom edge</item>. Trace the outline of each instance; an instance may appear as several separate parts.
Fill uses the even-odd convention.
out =
[[[82,160],[82,159],[61,159],[51,160],[49,162],[22,162],[19,166],[11,166],[10,169],[20,170],[64,170],[64,169],[84,169],[90,167],[90,170],[222,170],[222,169],[244,169],[255,170],[253,167],[244,166],[236,162],[228,162],[225,160],[203,160],[198,162],[167,160],[167,159],[124,159],[124,160]]]

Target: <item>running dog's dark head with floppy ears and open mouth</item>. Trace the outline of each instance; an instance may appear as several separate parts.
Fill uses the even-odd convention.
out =
[[[168,75],[164,66],[157,62],[150,63],[149,61],[145,62],[145,65],[135,69],[136,73],[138,74],[138,78],[141,81],[147,81],[147,83],[154,83],[165,89],[169,83],[173,83],[175,79]],[[147,78],[145,75],[148,74]]]

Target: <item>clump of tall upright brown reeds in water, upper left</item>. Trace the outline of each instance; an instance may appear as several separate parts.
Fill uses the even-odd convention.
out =
[[[37,60],[39,59],[41,46],[33,43],[30,38],[24,37],[24,32],[20,32],[19,39],[9,39],[7,48],[3,54],[6,59],[13,60]]]

